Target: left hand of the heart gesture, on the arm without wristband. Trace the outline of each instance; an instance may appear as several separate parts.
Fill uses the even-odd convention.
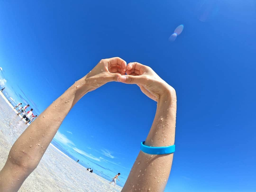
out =
[[[126,62],[113,57],[102,59],[100,62],[84,77],[89,91],[93,91],[110,81],[117,81],[121,75],[125,75]]]

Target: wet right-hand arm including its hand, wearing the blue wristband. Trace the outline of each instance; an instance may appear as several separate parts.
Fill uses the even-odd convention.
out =
[[[143,93],[157,102],[155,118],[145,145],[173,145],[176,123],[175,90],[150,67],[140,63],[129,63],[126,73],[128,75],[120,78],[121,82],[137,84]],[[132,118],[131,115],[129,117]],[[122,191],[164,191],[172,160],[173,154],[151,155],[140,151]]]

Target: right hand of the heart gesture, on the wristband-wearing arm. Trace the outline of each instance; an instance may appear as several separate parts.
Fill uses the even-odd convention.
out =
[[[175,92],[163,79],[161,79],[153,69],[138,62],[128,63],[127,75],[118,77],[118,81],[128,84],[137,84],[141,91],[154,101],[164,93]]]

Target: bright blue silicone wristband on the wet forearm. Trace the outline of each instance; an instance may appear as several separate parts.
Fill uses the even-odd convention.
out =
[[[141,142],[141,151],[152,155],[170,154],[175,152],[175,145],[164,146],[164,147],[150,147],[144,145],[145,141]]]

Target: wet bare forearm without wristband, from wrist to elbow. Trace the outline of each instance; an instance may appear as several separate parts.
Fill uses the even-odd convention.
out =
[[[78,87],[77,87],[78,86]],[[83,79],[75,82],[42,112],[12,146],[8,160],[35,168],[73,105],[86,94]]]

